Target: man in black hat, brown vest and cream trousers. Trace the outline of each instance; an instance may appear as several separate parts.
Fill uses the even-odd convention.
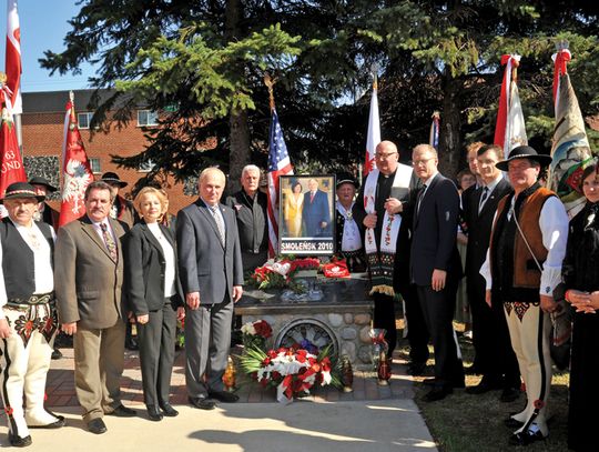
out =
[[[480,269],[486,301],[501,301],[511,346],[526,385],[527,404],[505,423],[517,429],[509,443],[528,445],[548,435],[546,403],[551,386],[549,314],[561,281],[568,215],[554,192],[538,183],[551,162],[528,145],[515,148],[497,168],[508,172],[514,193],[497,207],[487,260]]]

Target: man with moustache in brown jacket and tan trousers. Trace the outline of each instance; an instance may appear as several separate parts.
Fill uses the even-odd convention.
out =
[[[109,217],[110,187],[85,190],[85,215],[59,229],[54,285],[62,331],[73,334],[75,392],[90,432],[106,431],[104,414],[129,418],[121,403],[124,322],[121,315],[124,223]]]

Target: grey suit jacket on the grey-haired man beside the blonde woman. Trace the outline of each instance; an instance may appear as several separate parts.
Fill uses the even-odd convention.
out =
[[[200,292],[202,304],[233,300],[233,285],[243,284],[243,263],[235,213],[219,204],[225,223],[225,247],[216,222],[206,204],[199,199],[179,211],[176,242],[179,274],[183,293]]]

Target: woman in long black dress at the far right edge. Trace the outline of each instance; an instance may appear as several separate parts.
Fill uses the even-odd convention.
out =
[[[581,189],[587,204],[570,221],[561,267],[566,301],[576,309],[568,414],[568,448],[575,451],[596,446],[596,424],[587,409],[599,404],[599,164],[585,169]]]

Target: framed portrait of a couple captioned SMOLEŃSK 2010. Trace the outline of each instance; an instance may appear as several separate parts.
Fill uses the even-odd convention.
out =
[[[282,175],[278,180],[278,252],[335,252],[335,175]]]

